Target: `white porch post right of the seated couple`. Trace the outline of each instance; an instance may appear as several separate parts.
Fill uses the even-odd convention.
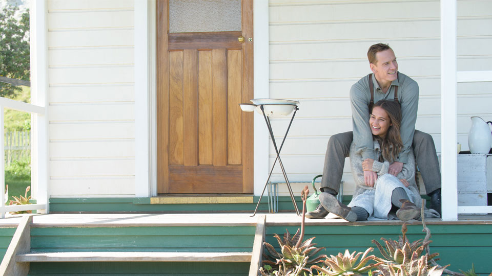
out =
[[[442,219],[458,220],[456,0],[441,0]]]

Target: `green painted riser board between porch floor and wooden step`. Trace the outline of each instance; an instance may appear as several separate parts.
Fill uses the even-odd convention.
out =
[[[255,229],[255,226],[33,226],[31,251],[251,252]]]

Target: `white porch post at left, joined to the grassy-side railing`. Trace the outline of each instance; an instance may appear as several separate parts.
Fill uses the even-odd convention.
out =
[[[49,116],[48,116],[48,26],[46,0],[31,1],[31,103],[44,106],[44,114],[32,114],[31,193],[38,204],[46,204],[49,213]]]

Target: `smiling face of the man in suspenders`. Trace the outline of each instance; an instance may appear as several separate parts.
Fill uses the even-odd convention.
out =
[[[388,49],[377,52],[376,60],[376,64],[371,63],[371,70],[378,81],[392,82],[398,78],[396,74],[398,72],[398,63],[393,50]]]

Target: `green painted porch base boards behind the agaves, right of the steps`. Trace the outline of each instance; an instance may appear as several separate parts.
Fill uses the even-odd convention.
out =
[[[407,238],[410,241],[423,239],[421,225],[408,225]],[[427,225],[432,234],[430,250],[438,252],[441,265],[450,264],[448,269],[453,271],[468,270],[473,264],[478,274],[490,274],[492,272],[492,224],[447,224]],[[294,226],[269,226],[265,229],[265,241],[274,247],[278,245],[274,234],[282,237],[288,229],[291,234],[296,233],[298,227]],[[353,251],[365,251],[367,247],[374,247],[372,254],[381,257],[372,240],[382,244],[381,237],[398,240],[401,235],[401,225],[331,225],[331,226],[306,226],[305,239],[316,237],[314,243],[319,247],[326,247],[321,254],[337,255],[348,249]],[[279,248],[276,248],[277,250]]]

